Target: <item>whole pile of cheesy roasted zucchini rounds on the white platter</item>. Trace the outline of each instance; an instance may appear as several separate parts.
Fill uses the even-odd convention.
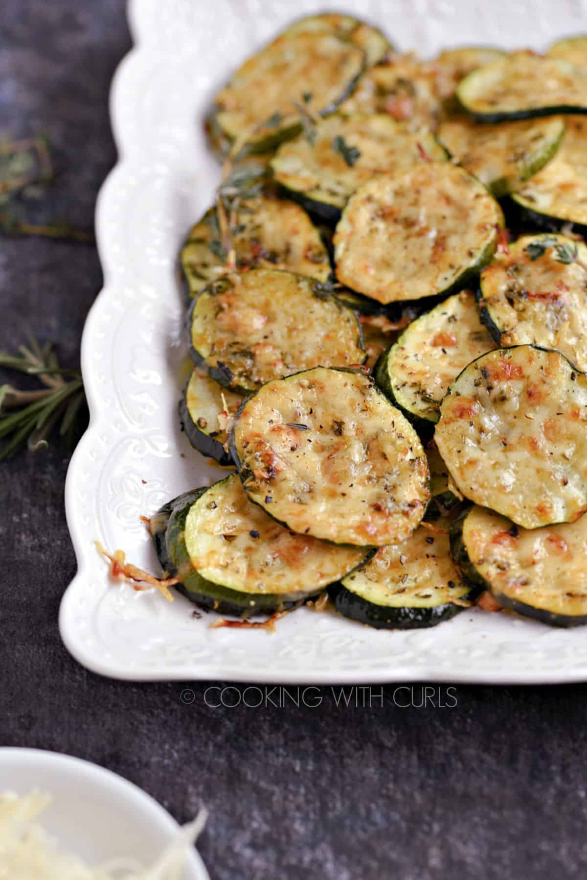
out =
[[[179,411],[236,473],[151,520],[193,602],[587,622],[586,45],[423,62],[325,13],[216,95]]]

